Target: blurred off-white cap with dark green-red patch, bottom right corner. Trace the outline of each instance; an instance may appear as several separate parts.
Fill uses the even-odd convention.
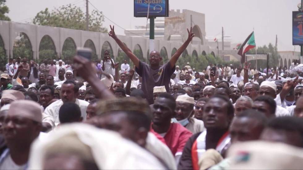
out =
[[[228,169],[302,169],[302,153],[302,148],[286,143],[267,141],[234,143],[227,152],[227,158],[231,161]]]

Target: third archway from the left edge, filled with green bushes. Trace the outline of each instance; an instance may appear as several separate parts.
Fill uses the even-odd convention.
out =
[[[39,61],[53,60],[57,58],[56,47],[49,35],[44,35],[39,44]]]

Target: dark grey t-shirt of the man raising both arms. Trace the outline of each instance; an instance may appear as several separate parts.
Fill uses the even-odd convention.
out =
[[[142,77],[141,89],[145,93],[149,104],[153,104],[152,92],[155,86],[165,86],[169,92],[170,77],[175,72],[175,66],[170,67],[169,62],[160,66],[159,69],[153,70],[149,65],[140,61],[139,68],[136,67],[136,72]]]

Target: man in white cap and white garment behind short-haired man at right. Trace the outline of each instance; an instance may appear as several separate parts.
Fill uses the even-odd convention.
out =
[[[275,115],[277,117],[279,116],[289,116],[290,113],[288,110],[286,110],[285,108],[281,107],[281,105],[279,105],[279,102],[281,103],[281,98],[280,98],[280,94],[276,95],[277,92],[277,85],[275,85],[274,82],[272,81],[263,81],[260,85],[260,89],[259,89],[259,96],[269,96],[272,97],[273,99],[275,99],[277,108],[275,110]]]

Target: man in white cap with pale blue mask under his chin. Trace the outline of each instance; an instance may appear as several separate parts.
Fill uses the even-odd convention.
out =
[[[195,104],[194,97],[190,97],[187,94],[180,95],[176,99],[176,104],[175,112],[178,123],[193,134],[202,132],[204,129],[203,121],[191,117]]]

